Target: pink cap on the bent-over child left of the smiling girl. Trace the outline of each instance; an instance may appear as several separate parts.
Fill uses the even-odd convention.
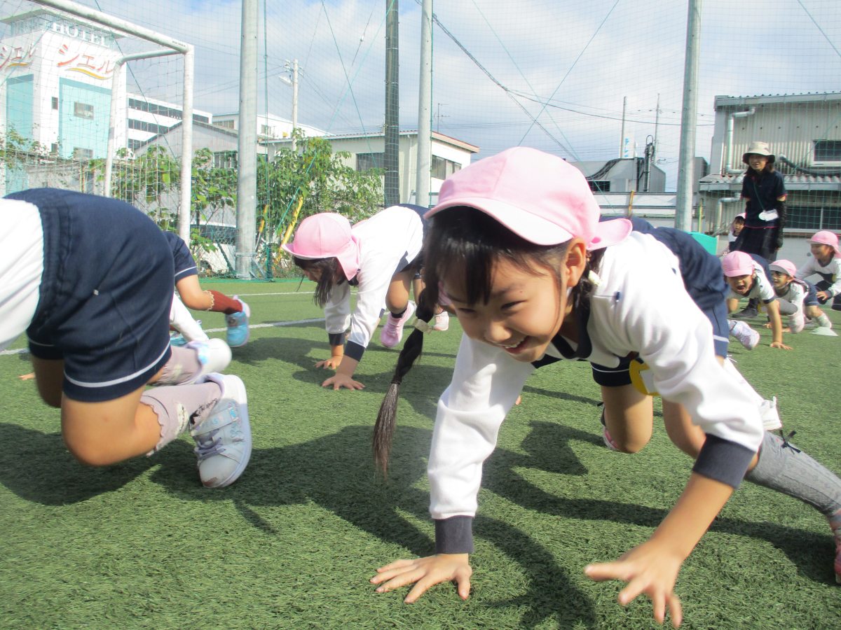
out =
[[[292,243],[283,250],[304,260],[336,258],[348,280],[359,270],[359,245],[351,232],[351,222],[336,213],[313,214],[295,232]]]

